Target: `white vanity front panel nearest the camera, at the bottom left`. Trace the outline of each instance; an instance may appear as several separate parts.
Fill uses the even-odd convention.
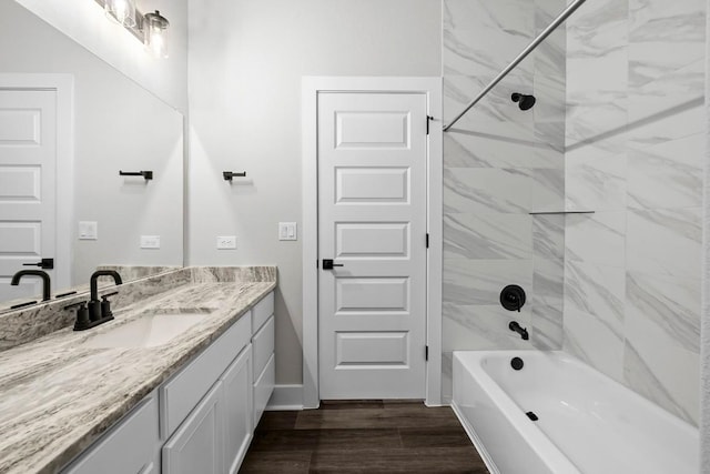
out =
[[[150,472],[160,444],[158,400],[149,395],[109,433],[69,465],[64,474]],[[126,456],[126,453],[130,453]]]

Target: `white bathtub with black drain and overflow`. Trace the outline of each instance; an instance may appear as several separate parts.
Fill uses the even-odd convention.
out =
[[[697,428],[561,352],[454,352],[453,406],[491,473],[699,472]]]

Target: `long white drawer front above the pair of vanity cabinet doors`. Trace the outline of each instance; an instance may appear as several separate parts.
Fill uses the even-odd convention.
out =
[[[161,386],[159,393],[163,437],[169,437],[180,426],[222,372],[250,343],[251,335],[251,317],[247,313]]]

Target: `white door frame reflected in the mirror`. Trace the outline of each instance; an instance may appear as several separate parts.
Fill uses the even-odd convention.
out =
[[[57,203],[54,288],[71,285],[74,209],[74,77],[62,73],[0,73],[0,90],[51,90],[57,94]]]

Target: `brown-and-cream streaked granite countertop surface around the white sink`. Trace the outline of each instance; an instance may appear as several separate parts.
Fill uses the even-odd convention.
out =
[[[114,307],[115,321],[93,330],[67,327],[0,352],[0,472],[59,471],[275,286],[189,283],[125,309]],[[82,345],[150,310],[191,307],[212,312],[169,344]]]

